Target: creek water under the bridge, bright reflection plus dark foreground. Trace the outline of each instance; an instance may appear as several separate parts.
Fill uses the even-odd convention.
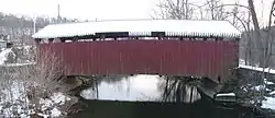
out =
[[[212,101],[186,86],[184,102],[161,102],[165,80],[134,75],[103,80],[81,92],[86,107],[74,118],[239,118],[240,109],[219,109]],[[193,91],[193,92],[191,92]],[[193,94],[190,94],[193,93]],[[191,102],[189,101],[191,98]]]

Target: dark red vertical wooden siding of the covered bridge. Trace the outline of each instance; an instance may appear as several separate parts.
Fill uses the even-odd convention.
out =
[[[170,74],[228,79],[238,67],[237,40],[106,40],[40,44],[70,74]]]

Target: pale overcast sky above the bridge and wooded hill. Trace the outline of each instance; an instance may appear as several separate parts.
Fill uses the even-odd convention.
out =
[[[160,0],[0,0],[0,12],[23,14],[23,15],[44,15],[56,16],[57,4],[61,4],[61,14],[66,17],[81,20],[109,20],[109,19],[150,19],[153,9]],[[204,0],[190,0],[201,3]],[[243,4],[248,0],[239,0]],[[266,17],[272,0],[254,0],[258,15],[264,9]],[[264,1],[264,4],[261,2]],[[232,3],[234,0],[223,0]]]

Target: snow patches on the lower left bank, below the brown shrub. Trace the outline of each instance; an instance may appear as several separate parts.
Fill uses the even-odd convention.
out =
[[[44,118],[61,117],[59,106],[70,101],[63,93],[53,93],[50,98],[41,98],[40,104],[32,105],[22,82],[12,82],[11,86],[4,87],[0,95],[0,117],[31,118],[34,114]],[[41,111],[34,111],[31,106]]]

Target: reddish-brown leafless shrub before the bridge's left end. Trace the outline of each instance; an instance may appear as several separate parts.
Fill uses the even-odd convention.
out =
[[[40,54],[38,61],[34,66],[23,67],[18,70],[20,76],[25,82],[35,83],[35,85],[46,91],[46,93],[53,92],[66,92],[67,87],[62,82],[66,68],[62,64],[55,54],[45,51]]]

